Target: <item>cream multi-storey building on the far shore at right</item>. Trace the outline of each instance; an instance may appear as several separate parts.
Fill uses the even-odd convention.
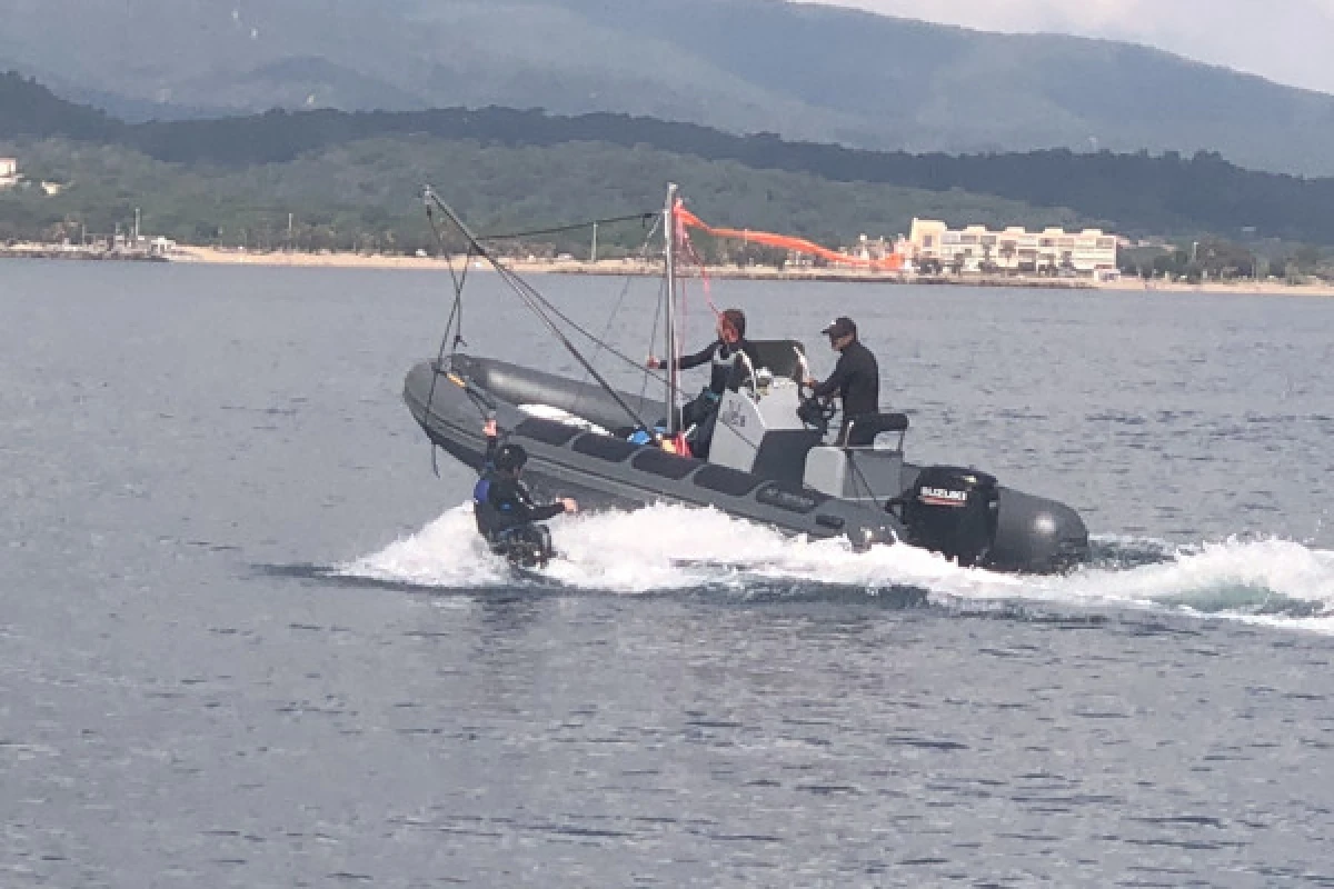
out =
[[[1115,272],[1117,241],[1115,235],[1098,228],[1029,232],[1010,227],[992,232],[984,225],[951,229],[938,220],[914,219],[907,251],[918,268],[934,261],[942,268],[962,263],[966,272],[980,272],[983,267],[1013,272],[1051,268],[1095,276]]]

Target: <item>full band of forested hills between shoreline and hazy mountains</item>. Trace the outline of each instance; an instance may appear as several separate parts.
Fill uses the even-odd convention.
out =
[[[0,195],[9,237],[72,220],[107,231],[137,205],[155,231],[184,240],[272,240],[293,213],[321,243],[415,249],[426,183],[496,229],[652,208],[675,180],[720,224],[830,244],[906,232],[912,216],[1334,244],[1334,180],[1203,153],[915,156],[503,108],[124,124],[13,76],[0,76],[0,140],[31,177],[69,185],[57,197]]]

